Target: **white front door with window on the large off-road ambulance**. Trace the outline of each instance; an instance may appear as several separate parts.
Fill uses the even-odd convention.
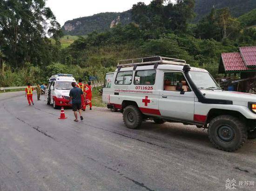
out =
[[[176,90],[182,83],[181,91]],[[194,120],[195,93],[191,91],[182,71],[163,72],[162,91],[159,94],[159,110],[162,116],[185,121]]]

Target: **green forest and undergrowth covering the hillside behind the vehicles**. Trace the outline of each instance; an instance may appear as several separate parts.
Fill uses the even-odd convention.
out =
[[[194,23],[194,7],[195,0],[139,2],[133,22],[61,46],[61,26],[45,0],[0,0],[0,87],[42,83],[56,73],[102,80],[118,60],[148,55],[185,59],[217,77],[222,52],[256,45],[256,11],[235,18],[229,7],[212,8]]]

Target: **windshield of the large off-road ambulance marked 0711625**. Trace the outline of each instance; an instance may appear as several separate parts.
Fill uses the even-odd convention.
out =
[[[207,72],[189,71],[189,76],[198,88],[220,89],[219,85]]]

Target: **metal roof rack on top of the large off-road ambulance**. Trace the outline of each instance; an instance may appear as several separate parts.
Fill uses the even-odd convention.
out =
[[[153,64],[154,64],[154,68],[157,68],[158,64],[174,64],[174,65],[183,66],[183,65],[186,65],[186,61],[176,59],[176,58],[169,58],[169,57],[150,56],[150,57],[121,60],[118,62],[117,68],[118,70],[120,70],[121,67],[134,66],[134,70],[135,70],[137,65],[153,65]]]

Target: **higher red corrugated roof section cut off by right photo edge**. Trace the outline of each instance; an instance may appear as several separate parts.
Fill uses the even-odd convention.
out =
[[[246,66],[256,66],[256,46],[240,47],[239,51]]]

